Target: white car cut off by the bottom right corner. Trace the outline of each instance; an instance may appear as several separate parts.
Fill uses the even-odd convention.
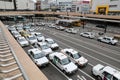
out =
[[[97,64],[91,71],[97,80],[120,80],[120,72],[110,66]]]

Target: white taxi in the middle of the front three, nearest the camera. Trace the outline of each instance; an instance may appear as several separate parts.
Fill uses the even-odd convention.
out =
[[[60,52],[53,52],[49,55],[49,59],[65,74],[75,73],[78,69],[66,55]]]

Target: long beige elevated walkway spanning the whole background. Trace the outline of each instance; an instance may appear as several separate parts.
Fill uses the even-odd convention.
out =
[[[48,11],[5,11],[5,12],[0,12],[0,16],[9,16],[9,15],[35,15],[35,14],[84,16],[84,17],[89,17],[89,18],[120,20],[120,16],[96,15],[96,14],[80,14],[80,13],[75,13],[75,12],[48,12]]]

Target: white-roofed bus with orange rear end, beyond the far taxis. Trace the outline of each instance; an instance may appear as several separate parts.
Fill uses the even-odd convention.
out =
[[[80,20],[70,20],[70,19],[58,19],[56,21],[57,25],[61,25],[64,27],[80,27],[81,21]]]

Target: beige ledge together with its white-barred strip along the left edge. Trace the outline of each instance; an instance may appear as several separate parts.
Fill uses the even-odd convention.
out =
[[[0,32],[0,80],[48,80],[2,22]],[[28,79],[24,77],[24,73]]]

